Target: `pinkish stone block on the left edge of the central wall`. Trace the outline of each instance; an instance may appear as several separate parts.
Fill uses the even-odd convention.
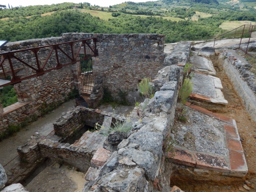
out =
[[[109,150],[104,148],[99,148],[91,159],[92,167],[103,166],[107,162],[110,156],[111,156],[111,152]]]

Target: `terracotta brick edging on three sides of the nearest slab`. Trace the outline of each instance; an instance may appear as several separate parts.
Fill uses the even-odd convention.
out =
[[[207,116],[214,117],[224,122],[229,162],[227,163],[221,156],[213,156],[197,151],[190,152],[181,148],[173,148],[175,156],[168,153],[167,158],[169,161],[185,164],[191,167],[224,172],[229,176],[243,177],[248,172],[248,168],[236,127],[236,121],[232,118],[213,113],[189,102],[186,102],[185,105]]]

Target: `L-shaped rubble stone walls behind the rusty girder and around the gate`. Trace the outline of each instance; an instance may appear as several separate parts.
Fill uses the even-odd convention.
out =
[[[96,79],[95,86],[89,105],[95,108],[102,98],[103,86],[117,96],[119,88],[129,92],[128,99],[134,102],[137,84],[144,77],[154,77],[157,71],[162,68],[164,62],[164,36],[159,34],[88,34],[88,33],[65,33],[60,37],[30,39],[18,42],[9,42],[2,50],[15,51],[27,48],[36,48],[45,45],[65,43],[97,37],[97,49],[99,56],[93,58],[93,73]],[[74,46],[78,47],[78,44]],[[68,51],[67,44],[60,46]],[[44,64],[50,48],[40,49],[37,53],[40,65]],[[71,54],[69,52],[69,54]],[[31,51],[18,52],[15,56],[28,64],[36,67],[35,53]],[[55,52],[52,53],[45,69],[57,65]],[[69,60],[60,53],[60,63],[65,64]],[[7,61],[5,61],[7,62]],[[12,59],[16,73],[19,77],[35,74],[36,72],[24,64]],[[4,64],[8,66],[7,64]],[[99,76],[98,76],[99,75]],[[97,82],[97,78],[102,80]],[[25,117],[32,114],[41,115],[45,106],[55,102],[63,102],[74,88],[81,91],[81,80],[79,76],[79,63],[63,67],[45,73],[42,76],[30,78],[14,86],[20,103],[31,102],[26,106],[11,106],[11,110],[3,110],[0,106],[2,116],[0,117],[0,134],[6,131],[10,124],[16,124]],[[22,104],[21,104],[22,105]],[[6,111],[6,112],[4,112]],[[11,111],[11,112],[10,112]]]

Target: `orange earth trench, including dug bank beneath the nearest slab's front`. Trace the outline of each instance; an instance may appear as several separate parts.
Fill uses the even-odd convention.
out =
[[[236,120],[249,172],[245,178],[228,178],[223,177],[220,172],[199,169],[193,170],[186,165],[167,163],[165,170],[172,170],[170,173],[170,186],[176,185],[187,192],[246,191],[243,188],[245,179],[250,180],[251,184],[256,186],[256,124],[246,112],[241,98],[238,96],[232,82],[217,59],[218,55],[211,58],[216,76],[220,78],[223,86],[222,92],[225,99],[228,100],[226,112],[219,111],[218,114]],[[253,191],[254,189],[251,190]]]

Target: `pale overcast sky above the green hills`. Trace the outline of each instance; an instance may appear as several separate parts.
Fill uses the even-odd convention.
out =
[[[99,6],[104,6],[104,7],[108,7],[109,5],[114,5],[114,4],[120,4],[124,1],[129,1],[129,0],[81,0],[82,3],[83,2],[88,2],[92,5],[96,4]],[[146,2],[146,1],[150,1],[150,0],[132,0],[133,2]],[[154,1],[154,0],[151,0]],[[28,6],[28,5],[51,5],[51,4],[57,4],[57,3],[63,3],[63,2],[67,2],[65,0],[39,0],[39,1],[35,1],[35,0],[7,0],[7,1],[0,1],[0,4],[5,4],[6,7],[8,7],[8,3],[10,4],[10,6],[12,5],[13,7],[17,7],[17,6]],[[76,2],[76,1],[68,1],[68,2],[72,2],[72,3],[81,3],[81,2]]]

